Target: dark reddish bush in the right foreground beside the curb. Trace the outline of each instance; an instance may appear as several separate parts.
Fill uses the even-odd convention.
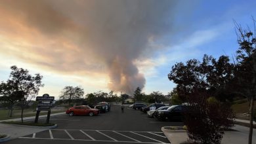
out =
[[[184,113],[184,124],[188,137],[195,143],[219,144],[225,129],[233,126],[234,113],[230,105],[217,99],[194,99]]]

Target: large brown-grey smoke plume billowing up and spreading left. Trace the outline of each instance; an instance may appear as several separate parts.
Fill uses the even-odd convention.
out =
[[[5,23],[14,18],[13,26],[30,29],[24,30],[32,33],[25,35],[30,42],[43,43],[30,52],[49,60],[35,63],[58,71],[108,73],[110,90],[132,94],[146,82],[135,60],[150,57],[150,41],[173,31],[175,5],[151,0],[1,1],[0,26],[17,35],[18,29]]]

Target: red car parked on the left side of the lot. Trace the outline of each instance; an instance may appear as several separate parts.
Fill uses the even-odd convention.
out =
[[[87,105],[79,105],[75,107],[70,107],[67,111],[66,114],[69,116],[74,116],[74,115],[98,115],[99,111],[98,109],[91,109],[91,107]]]

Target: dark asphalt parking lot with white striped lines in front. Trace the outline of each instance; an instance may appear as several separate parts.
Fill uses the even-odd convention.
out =
[[[39,120],[44,122],[45,119]],[[181,122],[160,122],[146,114],[120,105],[98,116],[62,115],[51,118],[58,127],[26,135],[5,143],[169,143],[162,126],[182,126]]]

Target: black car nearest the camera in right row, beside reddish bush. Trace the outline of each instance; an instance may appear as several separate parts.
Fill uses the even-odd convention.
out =
[[[182,120],[183,113],[186,111],[186,105],[173,105],[166,110],[161,110],[156,113],[158,120]]]

